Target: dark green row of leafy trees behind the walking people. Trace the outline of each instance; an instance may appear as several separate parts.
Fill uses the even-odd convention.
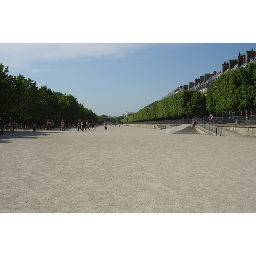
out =
[[[47,86],[38,88],[36,82],[23,75],[11,76],[8,67],[0,64],[0,117],[9,122],[19,119],[23,124],[30,122],[45,123],[47,119],[55,123],[77,123],[77,119],[104,122],[90,109],[78,103],[71,94],[55,92]]]

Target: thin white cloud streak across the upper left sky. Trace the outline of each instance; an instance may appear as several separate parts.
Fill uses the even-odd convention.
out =
[[[143,43],[1,43],[0,63],[12,68],[31,67],[33,61],[68,58],[125,57],[130,52],[149,47]]]

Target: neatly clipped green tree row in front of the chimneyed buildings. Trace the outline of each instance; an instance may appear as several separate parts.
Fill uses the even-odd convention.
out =
[[[247,68],[230,70],[222,74],[212,87],[207,88],[207,96],[197,90],[186,90],[162,99],[149,108],[143,108],[122,122],[139,122],[192,118],[215,113],[252,111],[256,114],[256,63]]]

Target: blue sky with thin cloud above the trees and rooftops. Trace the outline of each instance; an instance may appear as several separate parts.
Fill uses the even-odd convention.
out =
[[[137,112],[256,43],[2,43],[0,62],[98,115]]]

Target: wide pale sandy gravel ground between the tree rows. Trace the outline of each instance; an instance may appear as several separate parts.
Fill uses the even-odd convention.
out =
[[[0,213],[255,213],[255,137],[104,131],[0,136]]]

